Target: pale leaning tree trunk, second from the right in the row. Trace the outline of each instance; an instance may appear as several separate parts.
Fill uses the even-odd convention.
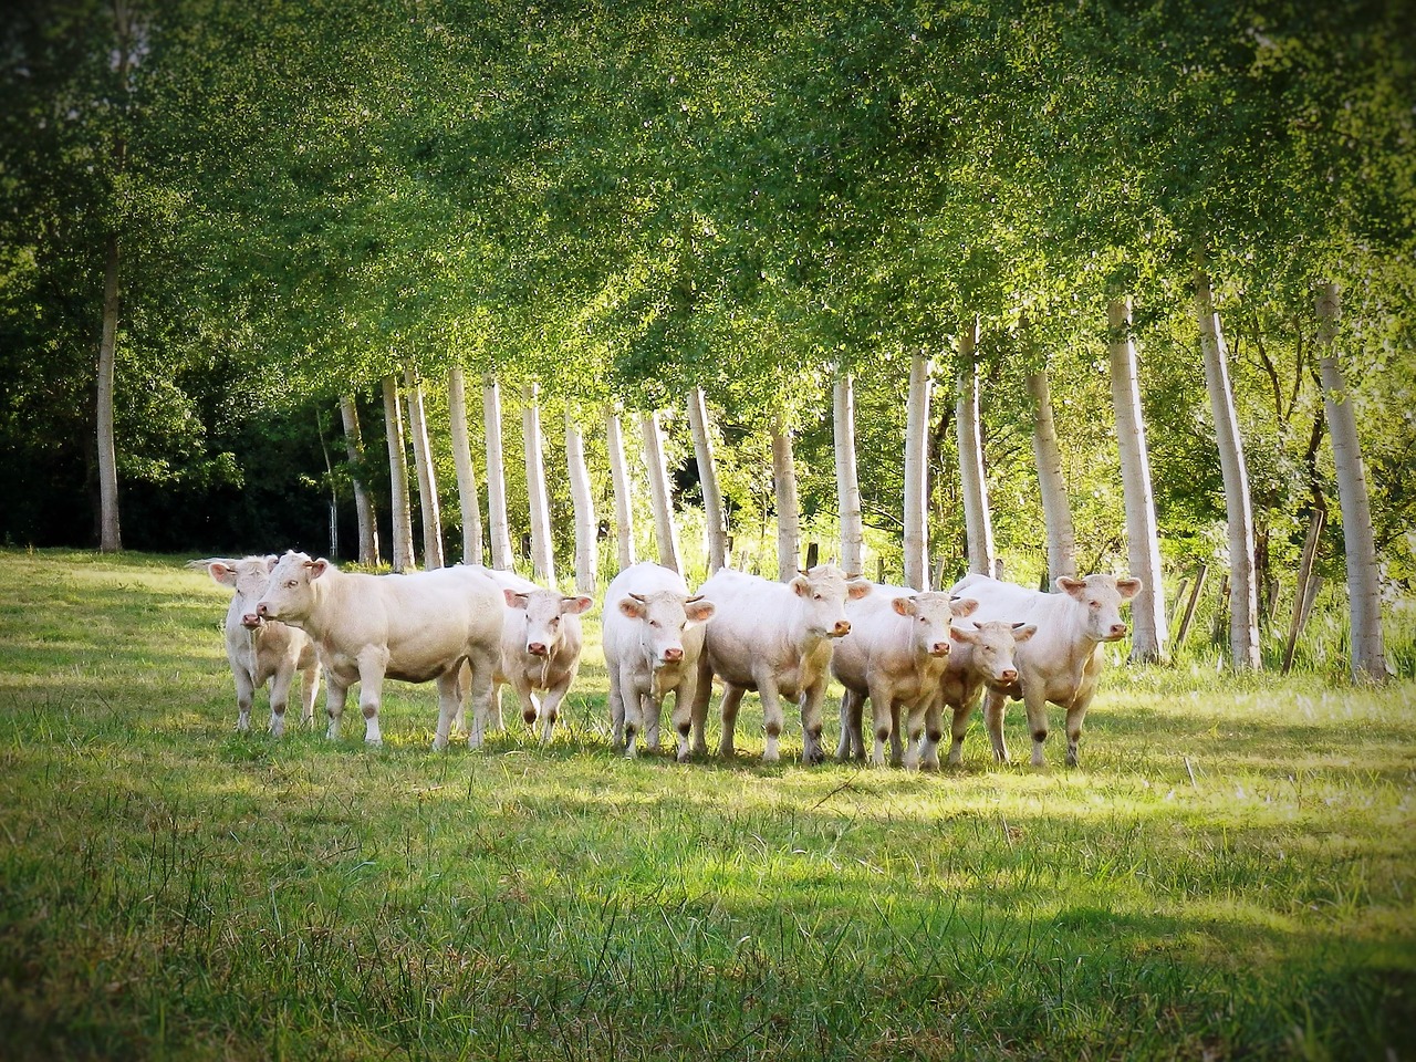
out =
[[[1249,498],[1249,470],[1239,438],[1233,388],[1229,384],[1228,351],[1219,314],[1214,309],[1209,275],[1195,269],[1195,314],[1199,319],[1199,350],[1205,361],[1205,387],[1215,419],[1219,469],[1225,483],[1229,524],[1229,651],[1235,670],[1257,668],[1259,599],[1253,579],[1253,508]]]

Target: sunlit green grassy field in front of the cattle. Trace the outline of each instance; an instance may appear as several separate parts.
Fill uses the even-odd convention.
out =
[[[433,753],[395,683],[365,750],[234,732],[225,600],[0,552],[3,1059],[1416,1058],[1410,683],[1113,668],[1075,770],[678,766],[612,755],[592,622],[551,748]]]

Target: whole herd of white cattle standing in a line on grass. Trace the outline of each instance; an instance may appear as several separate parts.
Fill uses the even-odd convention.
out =
[[[365,575],[299,552],[193,565],[234,590],[225,640],[236,728],[249,729],[255,691],[269,681],[276,736],[296,673],[306,725],[323,673],[330,738],[338,736],[348,690],[358,683],[364,739],[381,743],[384,680],[396,678],[438,684],[436,749],[455,729],[466,729],[472,749],[501,729],[503,685],[515,690],[527,725],[548,742],[579,668],[579,617],[593,607],[590,598],[476,565]],[[657,749],[660,715],[673,694],[678,759],[707,755],[716,677],[722,755],[733,753],[738,709],[752,690],[762,702],[763,760],[779,759],[782,701],[790,698],[800,708],[801,762],[820,763],[821,709],[834,677],[845,691],[841,760],[865,758],[862,709],[869,700],[872,763],[937,769],[947,707],[947,763],[959,765],[981,695],[997,759],[1008,759],[1003,716],[1011,698],[1027,707],[1037,766],[1044,763],[1048,704],[1066,709],[1066,762],[1075,766],[1102,646],[1126,636],[1120,609],[1140,586],[1134,578],[1089,575],[1058,579],[1054,593],[1042,593],[969,575],[949,592],[920,593],[818,565],[790,582],[722,569],[691,593],[677,572],[636,564],[615,576],[603,600],[613,741],[626,756],[640,742]]]

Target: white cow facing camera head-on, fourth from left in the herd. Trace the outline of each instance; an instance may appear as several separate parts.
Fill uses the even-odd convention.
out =
[[[658,748],[664,698],[674,694],[678,760],[690,755],[690,708],[698,684],[704,624],[714,605],[688,595],[678,572],[657,564],[630,565],[605,590],[605,667],[610,674],[610,718],[616,746],[636,755],[637,738]],[[698,732],[700,752],[702,729]]]

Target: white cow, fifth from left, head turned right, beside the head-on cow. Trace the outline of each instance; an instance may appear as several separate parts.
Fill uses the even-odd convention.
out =
[[[786,583],[724,569],[700,588],[718,606],[704,639],[692,725],[702,742],[712,675],[722,680],[722,755],[733,755],[738,708],[748,690],[762,700],[765,763],[776,763],[782,738],[782,697],[801,708],[801,762],[820,763],[821,701],[830,678],[831,646],[851,633],[847,598],[868,595],[872,583],[834,565],[817,565]]]

